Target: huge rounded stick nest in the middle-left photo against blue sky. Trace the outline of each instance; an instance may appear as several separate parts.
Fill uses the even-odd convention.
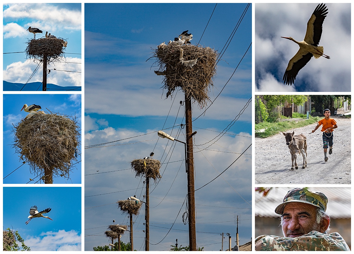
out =
[[[80,132],[76,117],[57,114],[36,114],[22,119],[12,130],[15,133],[13,147],[20,161],[28,163],[31,171],[40,176],[45,168],[51,168],[53,177],[69,179],[72,160],[80,154]]]

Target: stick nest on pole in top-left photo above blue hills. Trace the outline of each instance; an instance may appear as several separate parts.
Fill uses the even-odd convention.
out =
[[[67,45],[67,41],[63,38],[41,38],[38,40],[28,40],[26,43],[27,59],[41,61],[45,55],[48,62],[52,62],[58,57],[64,57],[64,48]]]

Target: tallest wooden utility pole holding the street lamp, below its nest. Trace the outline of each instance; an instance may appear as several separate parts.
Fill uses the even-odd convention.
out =
[[[195,202],[194,202],[194,155],[193,155],[193,131],[192,131],[192,100],[187,93],[185,97],[185,135],[187,143],[187,178],[188,178],[188,227],[189,250],[196,251],[195,235]]]

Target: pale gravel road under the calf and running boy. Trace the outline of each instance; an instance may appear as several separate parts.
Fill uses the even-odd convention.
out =
[[[255,184],[350,184],[351,183],[351,119],[331,116],[338,128],[333,132],[333,153],[324,161],[321,127],[292,129],[295,135],[307,138],[307,168],[302,169],[303,158],[297,157],[299,169],[290,171],[291,155],[282,133],[269,138],[255,139]]]

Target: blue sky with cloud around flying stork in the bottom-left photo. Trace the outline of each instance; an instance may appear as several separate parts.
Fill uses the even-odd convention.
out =
[[[32,251],[81,250],[81,187],[4,187],[3,206],[4,230],[18,230]],[[52,208],[44,214],[52,220],[33,218],[26,225],[32,206]]]

